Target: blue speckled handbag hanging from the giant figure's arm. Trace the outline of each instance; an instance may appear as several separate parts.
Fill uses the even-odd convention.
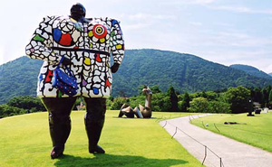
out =
[[[69,75],[67,75],[63,70],[60,70],[60,64],[63,62],[62,57],[61,61],[57,65],[57,68],[53,70],[53,88],[57,88],[63,92],[63,94],[69,95],[72,97],[77,93],[77,83],[76,79],[73,77],[73,74],[67,66],[65,69],[68,70]]]

